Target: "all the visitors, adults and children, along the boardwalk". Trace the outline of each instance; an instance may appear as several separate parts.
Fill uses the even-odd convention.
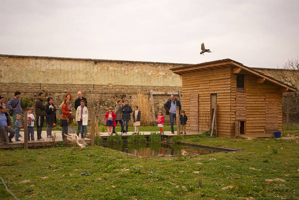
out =
[[[75,121],[78,124],[77,135],[81,134],[81,137],[84,138],[84,134],[87,133],[87,123],[88,123],[88,109],[87,109],[87,100],[82,96],[82,93],[79,91],[77,93],[78,98],[75,100],[75,112],[76,118]],[[16,141],[20,141],[19,137],[22,137],[19,132],[22,128],[21,123],[21,115],[22,115],[22,107],[21,107],[21,93],[19,91],[15,92],[15,97],[12,98],[7,103],[7,108],[10,109],[10,114],[5,112],[6,107],[4,104],[4,96],[0,96],[0,137],[3,139],[4,143],[12,142],[12,138],[15,136]],[[44,104],[45,94],[40,92],[38,94],[38,98],[35,102],[35,115],[32,114],[32,108],[27,107],[28,111],[28,141],[34,141],[34,121],[36,121],[36,132],[37,132],[37,140],[43,141],[42,138],[42,127],[44,124],[44,120],[46,119],[47,123],[47,138],[52,138],[52,127],[56,124],[56,107],[53,104],[53,97],[47,98],[47,104]],[[68,126],[72,123],[72,113],[73,108],[71,104],[72,96],[71,94],[66,94],[64,96],[64,100],[59,106],[59,113],[61,115],[61,124],[62,124],[62,140],[67,140],[64,134],[68,134]],[[176,106],[179,106],[180,115],[180,123],[182,125],[181,134],[183,132],[186,134],[186,122],[187,116],[185,115],[185,111],[181,111],[181,103],[178,99],[175,98],[175,95],[171,95],[170,99],[164,104],[164,109],[166,110],[166,115],[170,115],[170,127],[171,133],[174,134],[174,119],[176,119]],[[141,111],[138,110],[138,106],[134,107],[134,111],[132,107],[129,105],[129,101],[125,100],[124,104],[121,100],[119,100],[115,106],[114,112],[112,111],[112,107],[108,108],[107,113],[105,114],[106,118],[106,126],[108,130],[108,134],[111,135],[115,132],[115,126],[119,123],[121,126],[122,133],[128,132],[129,121],[131,120],[131,113],[133,119],[133,126],[135,128],[134,132],[139,132],[138,127],[141,125]],[[13,120],[11,120],[10,116],[12,116]],[[158,127],[160,129],[160,133],[164,133],[162,127],[164,126],[164,115],[162,111],[158,112],[157,119]],[[124,126],[126,125],[126,128]],[[5,131],[10,133],[9,141],[5,139]]]

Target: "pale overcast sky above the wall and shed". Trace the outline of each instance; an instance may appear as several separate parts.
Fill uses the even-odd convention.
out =
[[[0,54],[277,68],[299,56],[299,0],[0,0]],[[200,55],[201,43],[213,51]]]

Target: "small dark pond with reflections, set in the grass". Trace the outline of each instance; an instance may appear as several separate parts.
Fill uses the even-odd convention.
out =
[[[128,154],[132,154],[140,157],[149,156],[171,156],[186,154],[211,154],[221,151],[231,151],[231,149],[221,149],[215,147],[201,148],[200,145],[182,145],[182,144],[170,144],[170,143],[145,143],[145,144],[123,144],[123,145],[106,145],[109,149],[122,151]],[[208,149],[210,148],[210,149]],[[183,151],[182,151],[183,150]]]

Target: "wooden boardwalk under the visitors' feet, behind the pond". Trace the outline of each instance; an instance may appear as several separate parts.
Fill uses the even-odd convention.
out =
[[[143,135],[150,135],[150,131],[147,132],[140,132]],[[16,142],[15,138],[12,139],[13,143],[7,143],[7,144],[3,144],[0,143],[0,149],[11,149],[11,148],[24,148],[24,131],[20,131],[20,134],[22,135],[22,137],[19,137],[19,140]],[[118,133],[120,134],[120,133]],[[128,137],[129,135],[132,135],[133,132],[128,132],[127,134],[123,134],[123,137]],[[42,138],[44,138],[44,141],[37,141],[37,132],[34,131],[34,141],[29,141],[28,142],[28,147],[44,147],[44,146],[55,146],[56,142],[61,142],[62,141],[62,132],[61,131],[52,131],[52,135],[55,136],[54,138],[47,138],[47,132],[46,131],[42,131]],[[74,135],[74,134],[70,134],[70,135]],[[166,131],[164,132],[164,136],[174,136],[175,134],[172,134],[171,131]],[[193,135],[193,134],[187,134],[187,135]],[[109,137],[108,132],[103,132],[100,133],[101,137]],[[91,139],[85,137],[84,138],[85,142],[87,144],[90,145],[91,143]],[[67,140],[65,142],[66,144],[71,144],[70,140]]]

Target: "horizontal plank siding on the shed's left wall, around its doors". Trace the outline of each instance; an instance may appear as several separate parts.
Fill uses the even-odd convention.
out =
[[[211,128],[210,95],[217,94],[218,135],[219,137],[230,137],[231,68],[184,72],[182,74],[182,86],[183,107],[188,117],[192,115],[190,112],[190,95],[198,94],[199,133]],[[190,123],[191,121],[187,121],[186,129],[195,133],[190,130]]]

